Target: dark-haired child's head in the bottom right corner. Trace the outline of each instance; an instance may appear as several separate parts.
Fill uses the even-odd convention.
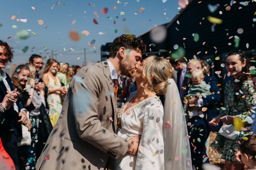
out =
[[[236,159],[251,168],[248,170],[256,170],[256,134],[244,136],[240,143]]]

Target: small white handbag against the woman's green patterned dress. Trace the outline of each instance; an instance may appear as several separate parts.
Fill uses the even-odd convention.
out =
[[[235,130],[234,125],[222,125],[218,133],[227,139],[236,140],[239,138],[240,132]]]

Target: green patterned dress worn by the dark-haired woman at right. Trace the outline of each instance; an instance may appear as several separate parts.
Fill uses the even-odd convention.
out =
[[[246,122],[247,116],[251,116],[251,109],[256,104],[256,92],[251,85],[251,80],[246,80],[239,92],[235,92],[234,79],[230,80],[226,84],[225,89],[225,105],[226,110],[221,110],[222,116],[237,116],[239,119],[244,120],[244,125],[247,127],[247,131],[241,131],[238,140],[227,139],[220,134],[217,134],[215,142],[212,142],[211,146],[217,149],[222,154],[221,158],[227,161],[237,162],[235,158],[236,150],[239,150],[238,141],[248,134],[252,134],[251,124]],[[234,95],[239,96],[239,102],[236,102]]]

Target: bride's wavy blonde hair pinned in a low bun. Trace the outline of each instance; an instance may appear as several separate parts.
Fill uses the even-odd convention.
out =
[[[172,77],[172,65],[164,58],[150,56],[146,60],[142,77],[141,86],[156,94],[166,94],[167,80]],[[151,76],[153,78],[151,79]]]

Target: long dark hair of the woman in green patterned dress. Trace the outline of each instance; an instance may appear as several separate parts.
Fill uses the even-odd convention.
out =
[[[251,79],[251,75],[250,74],[245,74],[245,73],[250,73],[249,67],[250,67],[250,60],[247,59],[247,57],[245,56],[245,54],[241,51],[241,50],[232,50],[230,51],[227,56],[226,59],[228,57],[230,57],[231,55],[237,55],[240,59],[241,62],[246,62],[245,66],[242,68],[242,71],[238,74],[237,79],[239,79],[239,82],[235,82],[235,94],[234,94],[234,98],[235,101],[238,102],[239,101],[239,95],[236,95],[236,92],[239,93],[239,90],[241,89],[243,83],[248,80]],[[239,93],[240,94],[240,93]]]

